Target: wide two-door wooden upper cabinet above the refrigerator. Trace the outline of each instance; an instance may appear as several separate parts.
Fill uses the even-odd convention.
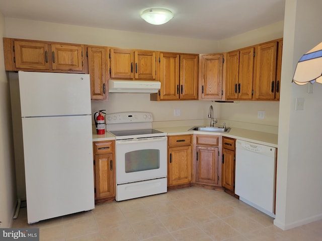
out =
[[[85,73],[84,45],[4,38],[5,69]]]

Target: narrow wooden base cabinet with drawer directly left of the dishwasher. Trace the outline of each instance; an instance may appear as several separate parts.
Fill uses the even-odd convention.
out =
[[[234,195],[235,193],[235,139],[222,138],[222,187]]]

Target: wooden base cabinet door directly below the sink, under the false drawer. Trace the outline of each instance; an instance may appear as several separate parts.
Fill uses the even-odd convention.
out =
[[[197,147],[196,151],[196,182],[218,185],[218,148]]]

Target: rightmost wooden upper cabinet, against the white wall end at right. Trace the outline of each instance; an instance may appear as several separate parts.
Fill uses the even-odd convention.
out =
[[[281,40],[258,46],[255,100],[279,99],[282,60]]]

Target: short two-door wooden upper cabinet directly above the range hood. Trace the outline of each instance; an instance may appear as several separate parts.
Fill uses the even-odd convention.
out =
[[[156,80],[156,52],[111,48],[110,75],[112,79]]]

